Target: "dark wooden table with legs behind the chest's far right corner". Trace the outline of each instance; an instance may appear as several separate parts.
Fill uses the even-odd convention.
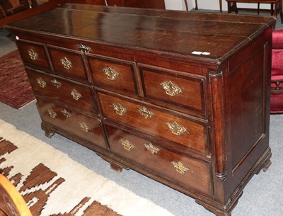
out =
[[[228,13],[231,11],[256,11],[258,14],[260,11],[262,12],[269,12],[272,16],[277,16],[278,13],[281,17],[281,23],[283,23],[283,12],[282,12],[282,0],[226,0],[228,4]],[[244,2],[244,3],[257,3],[258,8],[238,8],[237,2]],[[270,4],[269,9],[260,8],[260,4]]]

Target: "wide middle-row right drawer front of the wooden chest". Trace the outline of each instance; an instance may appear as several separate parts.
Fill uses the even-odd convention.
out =
[[[100,105],[106,118],[116,120],[151,135],[178,142],[207,153],[207,127],[204,123],[152,108],[141,103],[126,101],[99,92]]]

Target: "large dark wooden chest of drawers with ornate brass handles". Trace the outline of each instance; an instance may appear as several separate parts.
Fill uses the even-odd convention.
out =
[[[139,171],[229,216],[270,166],[274,23],[65,4],[7,28],[48,137],[64,135],[112,169]]]

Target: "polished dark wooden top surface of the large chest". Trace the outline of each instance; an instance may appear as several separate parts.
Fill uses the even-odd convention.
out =
[[[273,25],[270,16],[65,4],[9,29],[221,62]]]

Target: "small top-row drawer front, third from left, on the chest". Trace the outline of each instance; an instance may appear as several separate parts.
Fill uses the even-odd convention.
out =
[[[137,93],[133,62],[93,56],[88,56],[88,62],[96,86],[120,93]]]

